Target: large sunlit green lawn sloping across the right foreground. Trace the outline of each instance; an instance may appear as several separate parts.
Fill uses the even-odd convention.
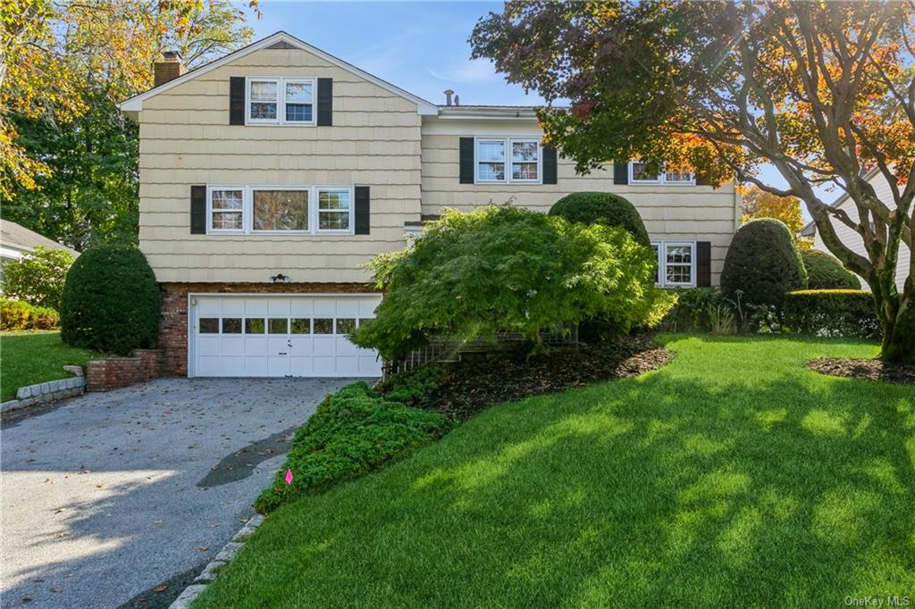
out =
[[[269,516],[199,607],[844,606],[915,597],[915,390],[877,347],[671,337]]]

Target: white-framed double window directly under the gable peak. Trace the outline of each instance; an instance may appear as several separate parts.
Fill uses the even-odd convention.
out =
[[[249,76],[245,81],[245,123],[314,125],[318,80]]]

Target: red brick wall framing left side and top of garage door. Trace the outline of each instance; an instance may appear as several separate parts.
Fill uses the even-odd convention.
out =
[[[162,374],[188,375],[188,294],[371,294],[368,283],[159,283]]]

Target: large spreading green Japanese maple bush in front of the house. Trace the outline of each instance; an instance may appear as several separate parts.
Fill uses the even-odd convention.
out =
[[[624,332],[656,325],[673,304],[654,286],[654,254],[625,230],[529,209],[448,211],[370,267],[384,300],[352,340],[387,359],[434,336],[506,331],[540,344],[542,328],[596,318]]]

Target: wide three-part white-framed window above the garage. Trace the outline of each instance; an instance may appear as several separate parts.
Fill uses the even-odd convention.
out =
[[[353,234],[353,187],[207,187],[210,234]]]

